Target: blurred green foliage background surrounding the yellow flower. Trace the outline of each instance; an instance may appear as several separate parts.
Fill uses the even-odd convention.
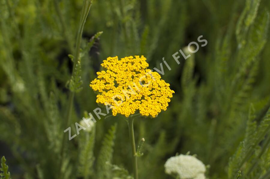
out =
[[[102,116],[94,131],[64,140],[62,151],[68,55],[74,55],[82,4],[0,1],[0,156],[12,178],[125,178],[106,161],[132,174],[128,125],[120,116]],[[134,122],[136,142],[146,140],[140,178],[171,178],[164,163],[188,151],[210,166],[208,178],[235,178],[238,170],[243,178],[266,176],[269,7],[268,0],[95,0],[82,34],[81,48],[93,46],[81,58],[72,134],[74,123],[98,107],[89,84],[102,60],[144,55],[149,69],[160,69],[164,57],[172,70],[163,65],[161,76],[175,94],[157,118]],[[177,65],[172,55],[200,35],[208,44]]]

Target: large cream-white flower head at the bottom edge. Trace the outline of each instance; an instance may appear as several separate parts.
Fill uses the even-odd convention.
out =
[[[205,179],[205,165],[196,157],[180,154],[169,158],[165,165],[165,172],[177,175],[181,179]]]

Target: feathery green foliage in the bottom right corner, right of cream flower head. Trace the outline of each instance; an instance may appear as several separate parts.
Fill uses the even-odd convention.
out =
[[[269,139],[266,139],[263,146],[259,146],[259,143],[262,142],[265,135],[270,131],[269,114],[270,108],[260,124],[257,125],[257,122],[254,121],[256,119],[254,107],[252,104],[250,105],[244,141],[239,145],[237,152],[230,159],[229,178],[232,177],[235,170],[241,169],[244,164],[245,167],[242,171],[245,177],[262,177],[265,170],[263,169],[264,167],[259,169],[260,172],[258,172],[258,169],[255,169],[258,167],[258,163],[263,162],[261,157],[265,152],[267,153],[267,146],[270,144]]]

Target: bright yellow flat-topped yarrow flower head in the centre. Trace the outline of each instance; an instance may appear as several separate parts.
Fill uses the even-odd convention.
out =
[[[113,116],[128,117],[139,110],[142,116],[156,117],[167,110],[174,91],[157,72],[147,69],[144,56],[108,57],[101,66],[104,71],[97,72],[90,87],[98,92],[96,102],[109,105]]]

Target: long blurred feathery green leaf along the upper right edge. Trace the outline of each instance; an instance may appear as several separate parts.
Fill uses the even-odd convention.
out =
[[[256,17],[247,32],[245,45],[239,50],[236,58],[236,65],[239,69],[232,80],[233,109],[237,109],[248,97],[251,85],[254,83],[257,73],[258,59],[256,58],[266,42],[268,32],[269,13],[264,11]],[[234,95],[233,93],[236,93]],[[234,112],[234,111],[232,111]]]

